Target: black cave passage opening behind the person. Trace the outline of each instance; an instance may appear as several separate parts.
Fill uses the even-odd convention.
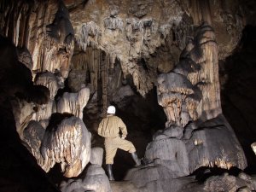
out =
[[[142,159],[155,131],[165,128],[166,114],[157,102],[155,88],[146,97],[127,96],[124,102],[125,105],[122,108],[116,107],[116,115],[124,121],[128,131],[126,139],[134,144],[138,157]],[[117,106],[114,102],[111,104]],[[104,138],[96,133],[99,119],[88,119],[92,119],[92,117],[90,114],[84,113],[84,124],[92,133],[92,147],[104,148]],[[131,154],[118,149],[113,164],[114,178],[117,181],[123,180],[125,173],[134,166],[135,162],[132,160]],[[105,167],[105,156],[103,157],[103,167]]]

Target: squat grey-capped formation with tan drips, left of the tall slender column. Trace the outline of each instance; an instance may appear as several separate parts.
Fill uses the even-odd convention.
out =
[[[178,73],[163,73],[158,78],[158,102],[164,108],[167,122],[171,125],[188,124],[197,118],[195,105],[196,90],[188,79]]]

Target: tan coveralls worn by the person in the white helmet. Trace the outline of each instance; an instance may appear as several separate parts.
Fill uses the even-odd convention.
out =
[[[126,125],[122,119],[112,114],[102,119],[98,127],[98,134],[105,137],[106,164],[113,164],[113,158],[118,148],[130,153],[136,152],[131,142],[119,137],[119,130],[122,132],[122,137],[126,137]]]

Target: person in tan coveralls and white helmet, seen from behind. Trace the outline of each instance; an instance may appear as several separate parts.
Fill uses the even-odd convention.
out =
[[[134,145],[125,139],[127,136],[126,125],[122,119],[115,114],[114,106],[109,106],[107,110],[107,117],[102,119],[99,127],[98,134],[105,138],[105,150],[106,150],[106,166],[108,172],[108,178],[110,181],[114,181],[113,178],[113,158],[117,152],[117,149],[123,149],[131,154],[132,159],[135,161],[136,166],[141,165],[141,160],[138,159],[136,148]],[[121,131],[121,136],[119,136]]]

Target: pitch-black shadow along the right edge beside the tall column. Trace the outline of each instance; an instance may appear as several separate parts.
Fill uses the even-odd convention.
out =
[[[256,142],[255,34],[256,26],[246,26],[233,55],[220,63],[220,79],[225,79],[221,92],[223,113],[244,149],[247,171],[251,173],[256,172],[256,157],[250,147],[251,143]]]

